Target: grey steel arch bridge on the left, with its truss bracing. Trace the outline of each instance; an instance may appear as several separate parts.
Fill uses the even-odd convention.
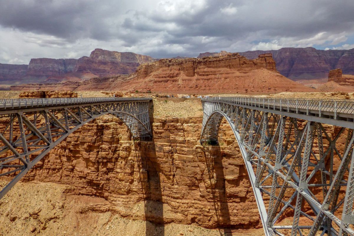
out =
[[[87,122],[112,114],[133,138],[151,137],[152,98],[39,98],[0,100],[0,177],[11,181],[2,198],[54,146]]]

